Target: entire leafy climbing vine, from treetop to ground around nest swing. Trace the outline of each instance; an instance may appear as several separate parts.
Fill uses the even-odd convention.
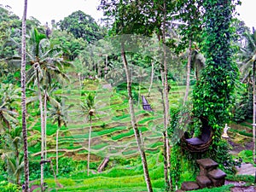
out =
[[[213,130],[212,146],[202,154],[190,154],[188,151],[182,150],[181,143],[173,146],[171,177],[173,184],[177,187],[180,187],[183,181],[188,181],[189,176],[196,175],[198,172],[196,159],[212,158],[218,163],[230,159],[228,145],[221,140],[221,133],[223,125],[231,119],[230,109],[235,102],[234,93],[238,81],[238,69],[232,59],[233,29],[230,27],[237,3],[240,1],[203,1],[204,40],[201,47],[207,61],[206,67],[201,72],[201,79],[196,83],[193,90],[191,116],[193,119],[203,117],[208,120]],[[189,130],[188,127],[183,127],[188,125],[184,123],[186,118],[183,115],[184,112],[188,111],[186,108],[183,106],[177,112],[173,111],[172,113],[172,123],[169,128],[169,134],[172,138],[180,137],[179,131]],[[195,126],[194,124],[193,129]],[[189,170],[187,176],[186,170]]]

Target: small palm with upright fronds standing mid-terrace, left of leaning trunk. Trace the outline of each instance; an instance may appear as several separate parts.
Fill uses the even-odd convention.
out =
[[[92,117],[95,116],[95,95],[88,94],[83,102],[80,104],[81,113],[87,119],[90,119],[90,130],[88,137],[88,156],[87,156],[87,175],[90,173],[90,134],[91,134],[91,125],[92,125]]]

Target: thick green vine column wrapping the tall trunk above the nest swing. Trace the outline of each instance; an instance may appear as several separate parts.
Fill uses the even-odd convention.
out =
[[[238,70],[232,61],[232,0],[204,1],[205,32],[202,44],[207,67],[193,92],[193,113],[207,117],[209,124],[220,137],[220,128],[230,119],[230,107],[234,103]]]

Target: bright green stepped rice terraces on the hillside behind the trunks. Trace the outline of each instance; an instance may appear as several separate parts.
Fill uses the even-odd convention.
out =
[[[61,94],[67,97],[66,103],[74,105],[68,113],[67,128],[62,127],[59,134],[59,151],[61,154],[68,156],[70,154],[73,156],[84,154],[84,158],[86,157],[90,122],[81,115],[79,103],[81,99],[84,99],[81,92],[85,94],[94,92],[96,93],[96,116],[92,122],[91,154],[97,156],[97,160],[102,160],[106,156],[109,158],[131,158],[136,156],[138,154],[137,143],[131,126],[126,90],[109,88],[109,85],[108,89],[104,89],[107,84],[104,81],[90,82],[90,84],[85,84],[83,90],[81,90],[79,82],[75,79],[71,84],[67,84],[65,89],[61,90]],[[157,88],[157,85],[159,84],[155,84],[155,88]],[[141,91],[142,95],[148,95],[146,85]],[[183,97],[183,91],[184,87],[182,86],[170,91],[170,96],[172,96],[172,99],[170,99],[171,107],[177,105],[178,100]],[[162,148],[163,108],[159,90],[152,89],[151,95],[147,99],[154,112],[144,111],[140,101],[139,104],[135,102],[135,113],[146,153],[155,154]],[[40,131],[39,122],[36,122],[35,127],[34,130]],[[48,119],[47,130],[48,154],[54,156],[57,126],[52,125],[50,119]],[[37,158],[39,150],[36,151],[34,148],[32,153]]]

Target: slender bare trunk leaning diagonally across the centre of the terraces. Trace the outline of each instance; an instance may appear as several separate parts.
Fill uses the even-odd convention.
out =
[[[153,192],[150,177],[149,177],[149,173],[148,173],[148,163],[147,163],[147,159],[146,159],[146,154],[145,154],[145,151],[144,151],[142,140],[140,138],[140,133],[139,133],[139,130],[137,128],[137,121],[136,121],[136,118],[135,118],[135,112],[134,112],[134,107],[133,107],[133,98],[132,98],[132,94],[131,94],[131,77],[130,77],[130,73],[129,73],[128,63],[127,63],[127,60],[126,60],[124,43],[121,43],[121,56],[122,56],[122,60],[123,60],[123,63],[124,63],[125,74],[126,74],[126,79],[127,79],[127,93],[128,93],[128,98],[129,98],[129,107],[130,107],[130,114],[131,114],[131,125],[132,125],[133,131],[134,131],[134,136],[135,136],[136,141],[137,141],[138,150],[141,154],[141,159],[142,159],[142,163],[143,163],[144,177],[145,177],[145,182],[147,184],[147,189],[148,189],[148,192]]]

